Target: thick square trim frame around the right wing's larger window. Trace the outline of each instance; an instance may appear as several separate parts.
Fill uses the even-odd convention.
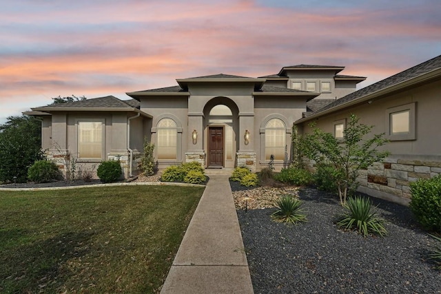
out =
[[[409,111],[409,132],[392,134],[391,133],[391,114]],[[416,140],[416,102],[408,103],[396,107],[390,107],[385,112],[386,138],[391,141]]]

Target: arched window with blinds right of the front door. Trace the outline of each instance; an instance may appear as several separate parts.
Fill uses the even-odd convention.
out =
[[[269,160],[271,154],[275,160],[285,159],[286,146],[285,123],[279,118],[271,118],[265,125],[265,159]]]

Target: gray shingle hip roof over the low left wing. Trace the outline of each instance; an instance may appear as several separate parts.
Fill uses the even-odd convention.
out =
[[[136,101],[138,102],[138,101]],[[99,98],[90,98],[86,100],[81,101],[74,101],[74,102],[68,102],[68,103],[59,103],[59,104],[50,104],[43,107],[36,107],[39,109],[44,108],[132,108],[135,103],[130,101],[127,103],[127,101],[121,101],[119,98],[116,98],[115,96],[105,96],[105,97],[99,97]],[[136,106],[139,107],[139,104]]]

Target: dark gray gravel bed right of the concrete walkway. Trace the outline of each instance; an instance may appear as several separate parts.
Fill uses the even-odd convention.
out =
[[[334,224],[338,198],[298,194],[308,222],[296,226],[271,222],[274,208],[237,210],[255,293],[441,293],[434,242],[408,207],[372,198],[389,234],[363,238]]]

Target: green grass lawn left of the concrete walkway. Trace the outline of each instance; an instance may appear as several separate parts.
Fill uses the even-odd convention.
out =
[[[203,187],[0,191],[1,293],[155,293]]]

